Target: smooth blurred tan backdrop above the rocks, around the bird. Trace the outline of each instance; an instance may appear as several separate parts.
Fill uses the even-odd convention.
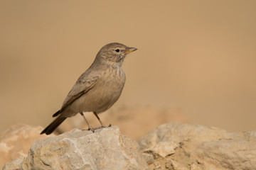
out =
[[[188,123],[256,129],[256,1],[0,1],[0,132],[48,125],[109,42],[139,49],[124,61],[112,109],[166,108]]]

